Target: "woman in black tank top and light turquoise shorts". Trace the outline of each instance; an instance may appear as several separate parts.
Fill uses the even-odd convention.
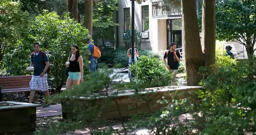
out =
[[[84,81],[83,58],[79,53],[79,47],[73,45],[71,47],[71,54],[66,62],[66,67],[69,68],[68,79],[66,82],[66,89],[71,89],[73,85],[79,85]]]

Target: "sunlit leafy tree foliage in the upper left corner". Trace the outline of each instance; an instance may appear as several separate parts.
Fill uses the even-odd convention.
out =
[[[21,10],[21,2],[0,1],[0,61],[8,47],[28,32],[28,12]]]

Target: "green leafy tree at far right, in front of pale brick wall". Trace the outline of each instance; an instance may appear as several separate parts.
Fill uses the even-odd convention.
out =
[[[256,42],[256,1],[218,0],[216,4],[217,39],[235,40],[246,47],[248,56],[252,55]]]

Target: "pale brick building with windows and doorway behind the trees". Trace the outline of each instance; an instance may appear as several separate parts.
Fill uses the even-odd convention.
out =
[[[197,10],[199,2],[197,0]],[[162,0],[147,0],[138,4],[135,2],[134,22],[135,29],[142,32],[141,49],[150,49],[154,52],[163,52],[167,49],[167,45],[171,42],[177,44],[181,56],[185,55],[182,36],[181,9],[173,7],[171,11],[164,11],[157,8],[161,5]],[[116,14],[116,41],[119,46],[125,46],[124,35],[131,30],[131,1],[120,0],[118,4],[118,12]],[[230,45],[236,58],[246,58],[246,51],[243,45],[234,42],[218,42],[223,46]]]

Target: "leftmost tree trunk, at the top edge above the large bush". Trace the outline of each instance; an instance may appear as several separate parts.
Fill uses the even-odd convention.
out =
[[[80,22],[77,0],[67,0],[67,9],[68,12],[71,13],[71,18],[74,18],[77,22]]]

